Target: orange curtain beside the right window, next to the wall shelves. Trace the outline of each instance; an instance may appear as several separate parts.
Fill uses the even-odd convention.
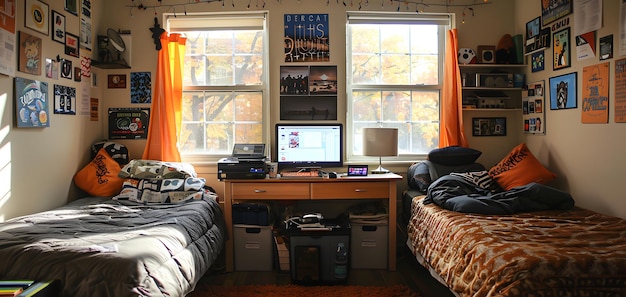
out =
[[[439,147],[468,146],[463,132],[463,94],[456,34],[456,29],[448,30],[446,33]]]

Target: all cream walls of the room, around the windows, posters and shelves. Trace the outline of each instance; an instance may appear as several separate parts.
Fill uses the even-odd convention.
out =
[[[173,1],[173,0],[172,0]],[[163,4],[172,3],[170,0],[163,0]],[[187,5],[186,8],[177,7],[177,13],[192,11],[247,11],[256,10],[256,1],[252,1],[252,6],[248,9],[248,0],[232,0],[235,4],[233,8],[230,0],[226,1],[224,7],[218,3],[202,3]],[[17,27],[18,30],[30,30],[23,28],[23,1],[18,2],[17,7]],[[106,2],[106,3],[105,3]],[[137,2],[137,1],[135,1]],[[156,5],[156,0],[144,0],[145,5]],[[281,3],[282,2],[282,3]],[[268,10],[270,12],[270,76],[278,77],[282,62],[282,27],[283,15],[286,13],[328,13],[331,20],[331,61],[329,65],[337,65],[339,75],[345,74],[345,12],[348,10],[358,10],[358,2],[354,0],[354,6],[348,4],[344,7],[342,1],[336,3],[330,1],[326,5],[326,0],[266,0],[265,8],[258,10]],[[441,0],[440,3],[447,1]],[[467,1],[473,2],[473,1]],[[474,7],[474,16],[466,10],[465,22],[462,23],[463,7],[427,7],[426,12],[454,12],[457,14],[457,28],[460,47],[476,48],[477,45],[497,44],[504,34],[523,34],[525,24],[529,20],[540,14],[540,3],[521,0],[491,0],[492,4]],[[618,1],[604,1],[604,27],[597,36],[614,34],[618,37]],[[78,33],[78,18],[68,15],[63,11],[63,1],[46,1],[51,9],[67,15],[68,31]],[[259,1],[262,3],[262,1]],[[389,6],[388,1],[384,1],[385,6],[381,7],[380,1],[370,1],[368,6],[363,6],[363,10],[386,10],[396,11],[397,6]],[[461,3],[461,0],[454,1],[453,4]],[[130,29],[132,30],[132,69],[128,70],[102,70],[93,68],[98,77],[98,88],[91,89],[91,96],[100,99],[100,121],[91,122],[86,116],[62,116],[51,115],[52,127],[46,129],[16,129],[13,124],[13,85],[12,77],[0,76],[0,106],[2,106],[2,119],[0,123],[0,160],[4,163],[0,167],[3,171],[1,180],[3,181],[0,194],[0,221],[26,213],[39,210],[50,209],[65,203],[70,197],[75,196],[76,190],[72,185],[73,174],[87,162],[89,146],[104,137],[107,137],[108,128],[106,126],[106,112],[109,107],[141,107],[147,105],[131,105],[129,89],[107,89],[106,75],[127,74],[133,71],[150,71],[155,75],[155,61],[157,51],[151,38],[151,28],[154,24],[155,10],[148,9],[139,11],[131,9],[128,5],[130,0],[119,1],[92,1],[94,5],[94,34],[104,34],[106,28]],[[409,6],[409,11],[414,11],[415,6]],[[402,10],[405,10],[402,6]],[[161,14],[166,8],[157,8],[156,17],[162,22]],[[513,13],[513,12],[516,13]],[[172,12],[170,9],[169,12]],[[53,42],[50,37],[43,36],[44,49],[43,56],[64,56],[61,44]],[[617,51],[616,51],[617,53]],[[546,58],[551,58],[548,54]],[[616,55],[616,58],[620,58]],[[78,60],[76,60],[78,61]],[[611,71],[614,69],[613,60],[610,60]],[[556,73],[568,73],[570,71],[582,71],[583,66],[597,63],[597,59],[584,62],[574,61],[568,70],[560,70]],[[530,68],[526,69],[528,80],[547,79],[555,72],[551,67],[538,73],[531,73]],[[19,76],[31,78],[22,73]],[[580,76],[579,76],[580,77]],[[38,77],[49,84],[57,81],[49,80],[43,76]],[[63,82],[64,84],[76,86],[74,82]],[[345,83],[340,87],[344,88]],[[270,122],[273,125],[278,119],[278,81],[271,82],[271,106]],[[580,88],[580,87],[579,87]],[[580,94],[580,89],[579,89]],[[614,92],[611,91],[611,97]],[[80,96],[80,93],[79,93]],[[546,97],[546,100],[549,100]],[[345,112],[345,95],[339,94],[338,98],[340,113]],[[580,103],[579,103],[580,106]],[[610,111],[608,124],[581,124],[580,108],[575,110],[550,111],[546,109],[545,136],[525,136],[521,132],[521,123],[516,129],[515,122],[521,119],[521,115],[512,116],[508,125],[512,129],[505,138],[482,137],[472,138],[471,130],[466,116],[466,133],[469,136],[470,145],[483,151],[483,156],[479,159],[487,167],[500,160],[513,146],[521,141],[526,141],[533,153],[559,177],[553,185],[567,191],[571,191],[576,202],[580,206],[588,207],[599,212],[617,215],[626,218],[626,206],[621,202],[621,193],[618,189],[620,184],[624,184],[624,175],[621,168],[625,168],[626,159],[621,158],[621,151],[624,150],[626,141],[620,139],[619,134],[623,132],[620,124],[614,123],[613,111]],[[489,116],[496,116],[492,113]],[[482,115],[481,115],[482,116]],[[508,116],[508,115],[507,115]],[[518,120],[515,118],[517,117]],[[344,122],[343,118],[340,121]],[[8,131],[8,132],[5,132]],[[584,135],[584,140],[581,137]],[[120,141],[126,144],[131,157],[140,158],[143,153],[145,141],[126,140]],[[5,161],[6,160],[6,161]],[[8,165],[6,165],[8,164]],[[408,164],[394,164],[387,166],[397,173],[404,174]],[[215,164],[196,164],[196,169],[200,174],[208,179],[208,183],[218,190],[223,191],[222,183],[215,178]],[[6,178],[5,178],[6,177]],[[10,180],[10,181],[9,181]],[[400,184],[404,185],[405,181]],[[6,186],[5,186],[6,185]],[[614,190],[615,189],[615,190]]]

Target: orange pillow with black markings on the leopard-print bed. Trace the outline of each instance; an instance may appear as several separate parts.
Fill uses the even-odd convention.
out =
[[[525,143],[513,148],[504,159],[491,167],[489,175],[505,190],[531,182],[546,184],[556,178],[556,174],[539,163]]]

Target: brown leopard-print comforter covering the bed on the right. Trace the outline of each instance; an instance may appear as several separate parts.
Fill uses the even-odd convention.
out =
[[[457,296],[626,296],[626,220],[587,209],[466,214],[425,196],[407,245]]]

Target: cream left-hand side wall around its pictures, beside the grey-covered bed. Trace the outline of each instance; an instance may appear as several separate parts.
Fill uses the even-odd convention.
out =
[[[80,65],[78,58],[64,54],[63,45],[52,41],[30,28],[24,27],[24,1],[16,4],[16,31],[25,31],[42,39],[42,60],[60,55]],[[78,17],[64,12],[63,1],[45,1],[50,10],[66,15],[67,31],[78,35]],[[94,11],[99,5],[94,6]],[[4,46],[4,45],[3,45]],[[42,67],[44,62],[42,61]],[[49,98],[54,84],[77,88],[73,80],[58,80],[16,72],[16,76],[48,83]],[[85,165],[89,158],[89,146],[99,139],[102,122],[92,122],[88,116],[53,114],[49,110],[49,128],[16,128],[13,79],[0,75],[0,222],[36,211],[60,206],[77,193],[72,185],[74,173]],[[90,89],[90,88],[88,88]],[[98,96],[98,90],[91,95]]]

